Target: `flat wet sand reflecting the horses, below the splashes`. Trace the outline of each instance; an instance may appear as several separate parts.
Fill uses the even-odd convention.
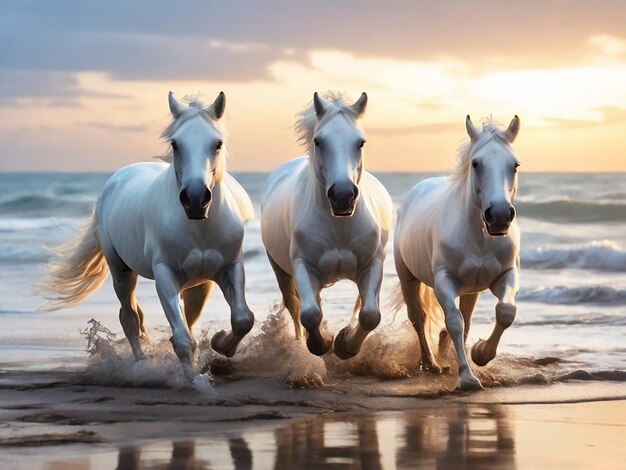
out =
[[[626,383],[478,393],[422,377],[217,377],[215,389],[112,387],[4,371],[6,468],[624,468]],[[168,467],[168,465],[171,465]]]

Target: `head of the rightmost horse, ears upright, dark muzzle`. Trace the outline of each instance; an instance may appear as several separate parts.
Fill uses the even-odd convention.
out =
[[[489,235],[506,235],[515,218],[513,203],[519,162],[511,144],[519,132],[519,117],[515,116],[506,130],[489,121],[483,125],[481,132],[469,115],[465,126],[470,137],[472,202],[480,209]]]

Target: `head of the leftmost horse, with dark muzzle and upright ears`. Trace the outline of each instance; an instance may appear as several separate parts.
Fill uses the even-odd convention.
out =
[[[206,219],[211,191],[224,173],[224,144],[217,121],[224,115],[226,98],[220,92],[209,106],[191,101],[179,103],[170,91],[169,106],[174,121],[164,135],[172,147],[172,165],[180,188],[179,199],[189,219]]]

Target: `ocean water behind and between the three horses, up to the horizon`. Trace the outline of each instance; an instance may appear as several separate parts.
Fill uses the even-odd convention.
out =
[[[81,331],[91,318],[123,338],[110,281],[83,305],[52,313],[37,311],[43,300],[32,288],[49,259],[46,247],[73,236],[109,176],[0,174],[0,368],[84,367]],[[254,336],[280,300],[260,237],[260,196],[267,174],[235,176],[256,210],[244,241],[248,303],[257,318]],[[397,209],[414,184],[434,175],[377,176]],[[522,174],[516,208],[522,230],[518,316],[499,353],[557,356],[587,370],[626,369],[626,175]],[[387,254],[383,299],[396,284],[391,244]],[[355,296],[347,281],[324,291],[323,310],[331,330],[350,321]],[[138,298],[150,335],[169,338],[151,281],[140,281]],[[490,293],[481,296],[468,344],[489,335],[495,303]],[[226,303],[216,289],[196,331],[210,333],[228,323]],[[394,316],[383,300],[383,324],[391,323],[404,325],[407,341],[416,341],[404,313]]]

